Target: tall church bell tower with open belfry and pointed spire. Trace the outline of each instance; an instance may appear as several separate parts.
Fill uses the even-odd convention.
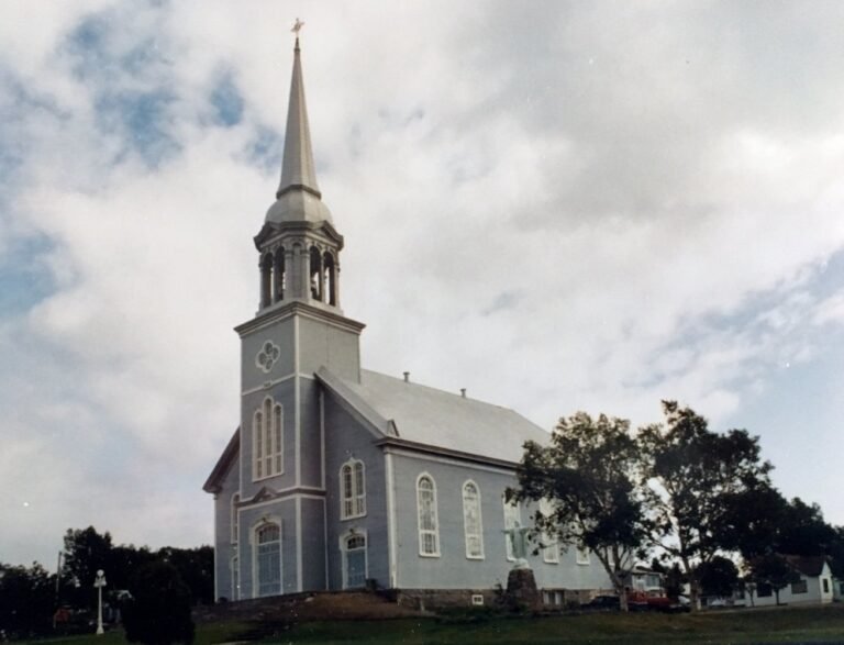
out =
[[[316,184],[299,26],[281,179],[254,238],[258,311],[235,329],[241,337],[238,557],[252,563],[240,567],[242,598],[325,588],[325,429],[314,372],[325,368],[360,380],[364,325],[340,307],[343,236]]]

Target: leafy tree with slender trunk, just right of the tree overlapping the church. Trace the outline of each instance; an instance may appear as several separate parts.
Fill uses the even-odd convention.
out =
[[[700,608],[698,565],[723,548],[724,501],[768,483],[758,437],[744,430],[718,434],[707,420],[675,401],[663,401],[665,425],[640,431],[643,485],[654,520],[654,541],[689,576],[691,608]]]

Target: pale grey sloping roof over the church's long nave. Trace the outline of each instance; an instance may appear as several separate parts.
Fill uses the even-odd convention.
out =
[[[316,376],[374,430],[418,447],[514,464],[522,457],[525,441],[545,444],[549,438],[547,432],[509,408],[376,371],[362,370],[359,383],[325,368]]]

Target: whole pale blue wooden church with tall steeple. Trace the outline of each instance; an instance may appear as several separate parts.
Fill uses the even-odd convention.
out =
[[[364,324],[342,309],[343,235],[314,173],[296,41],[281,181],[254,242],[260,300],[241,338],[241,418],[214,496],[215,593],[392,589],[489,601],[514,563],[504,502],[526,440],[512,410],[362,367]],[[546,602],[611,587],[595,556],[529,555]],[[463,596],[460,596],[463,594]]]

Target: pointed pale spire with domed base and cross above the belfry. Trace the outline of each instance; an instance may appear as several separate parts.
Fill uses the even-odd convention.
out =
[[[276,191],[276,203],[267,212],[267,222],[293,221],[331,222],[331,213],[322,203],[322,193],[316,184],[311,147],[311,130],[308,123],[308,108],[304,102],[302,63],[299,48],[299,30],[302,22],[297,19],[291,31],[296,32],[293,48],[293,74],[290,80],[290,102],[287,109],[285,153],[281,162],[281,181]]]

